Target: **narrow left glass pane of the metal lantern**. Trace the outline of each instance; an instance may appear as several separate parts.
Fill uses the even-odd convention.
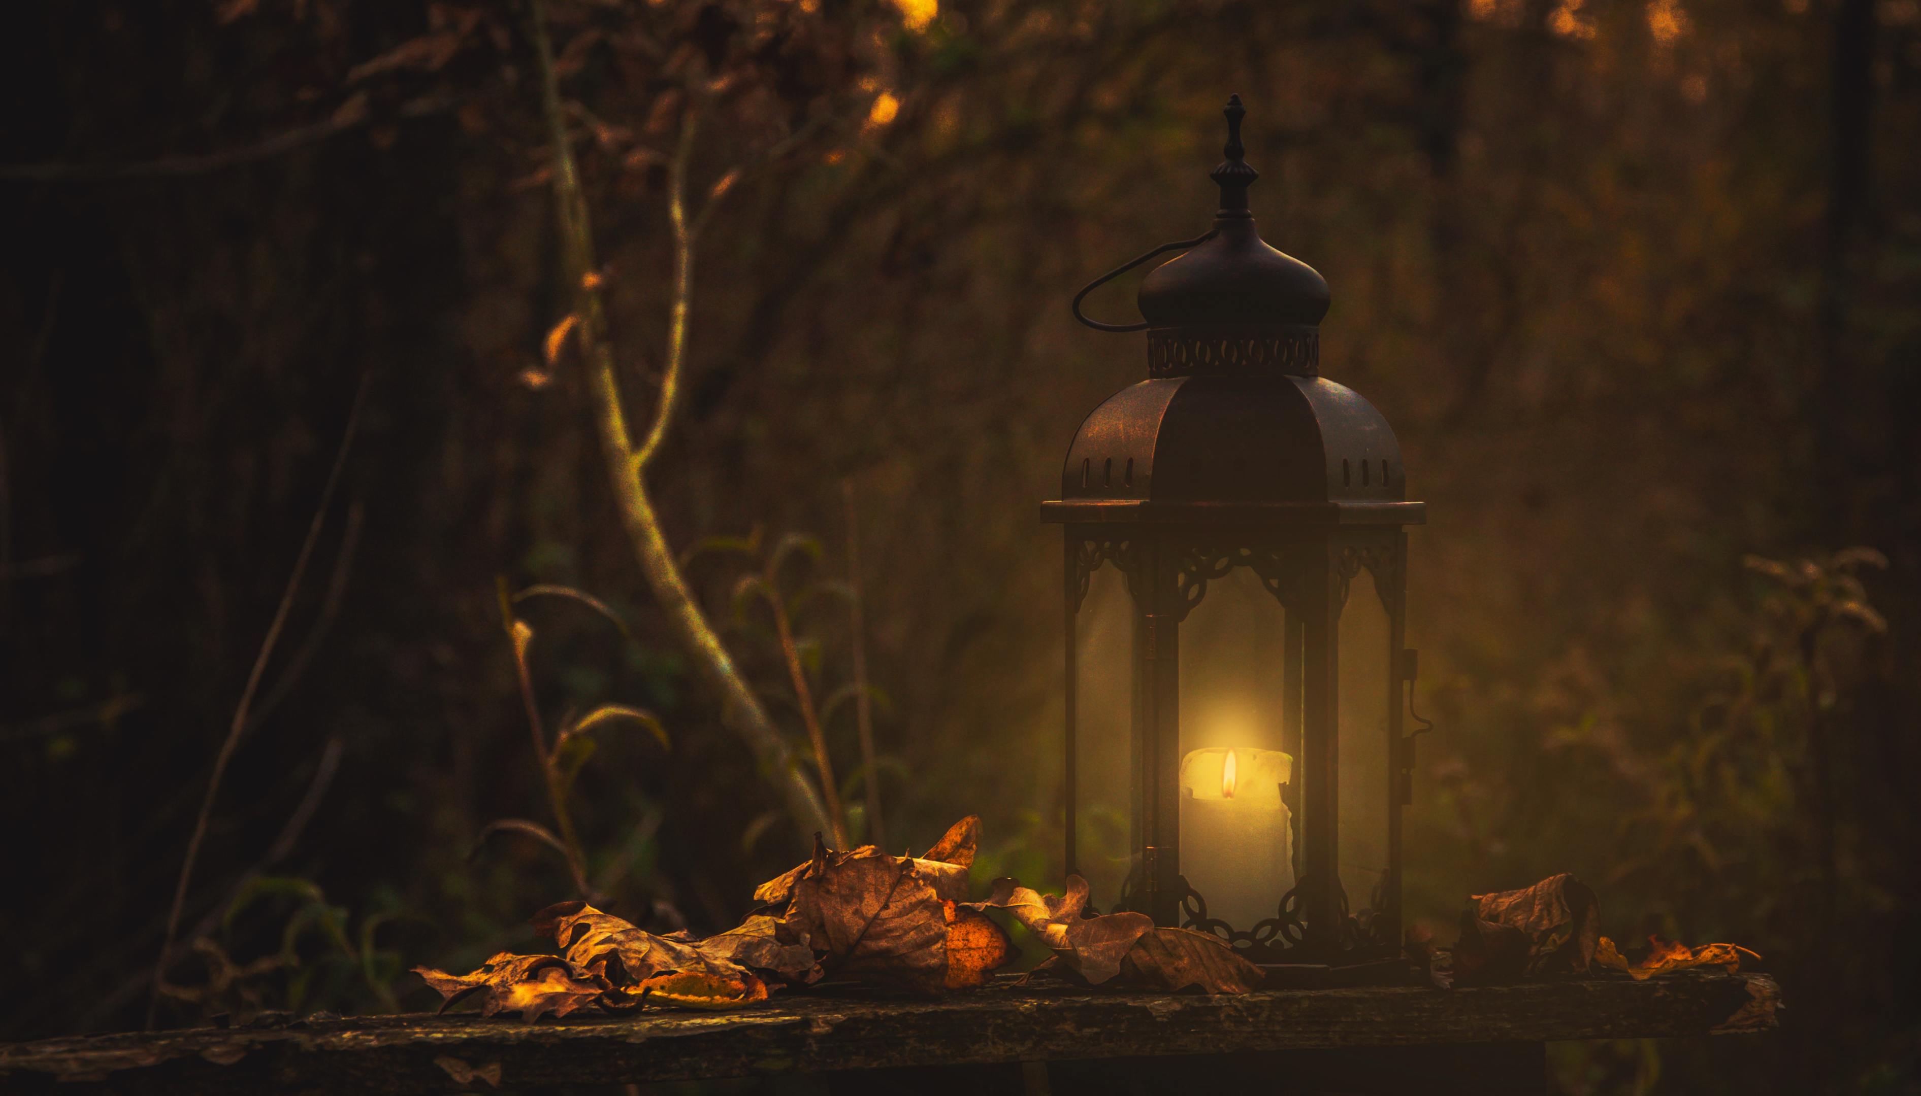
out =
[[[1141,818],[1135,802],[1137,616],[1120,568],[1101,566],[1089,576],[1087,599],[1074,620],[1074,866],[1087,879],[1089,902],[1101,910],[1120,902],[1131,866],[1130,848],[1141,843],[1135,833]]]

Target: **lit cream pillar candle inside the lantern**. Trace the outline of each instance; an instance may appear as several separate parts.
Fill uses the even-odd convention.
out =
[[[1295,885],[1281,785],[1295,758],[1208,747],[1181,758],[1181,875],[1235,929],[1277,916]]]

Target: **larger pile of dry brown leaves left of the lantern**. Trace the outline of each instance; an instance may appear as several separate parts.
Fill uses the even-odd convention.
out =
[[[985,900],[970,902],[978,843],[980,818],[957,822],[922,856],[888,856],[872,845],[836,852],[816,835],[813,858],[763,883],[755,912],[726,933],[657,937],[586,902],[561,902],[534,916],[557,956],[501,952],[469,975],[415,971],[446,998],[440,1012],[478,994],[482,1015],[517,1012],[526,1021],[586,1004],[617,1013],[647,1004],[732,1010],[824,979],[939,994],[976,989],[1014,960],[1007,933],[984,914],[1007,910],[1055,952],[1041,967],[1064,967],[1089,985],[1260,987],[1260,967],[1214,937],[1160,929],[1145,914],[1089,914],[1080,875],[1066,879],[1064,894],[995,879]]]

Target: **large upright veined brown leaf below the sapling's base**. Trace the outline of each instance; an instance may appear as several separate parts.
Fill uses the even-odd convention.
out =
[[[822,967],[920,992],[947,983],[947,917],[918,860],[830,852],[815,837],[815,858],[793,883],[788,923],[828,954]]]

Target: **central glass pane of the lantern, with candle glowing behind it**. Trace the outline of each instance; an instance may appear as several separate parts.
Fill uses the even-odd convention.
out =
[[[1285,637],[1287,612],[1245,566],[1210,580],[1181,622],[1181,875],[1241,931],[1295,885]]]

